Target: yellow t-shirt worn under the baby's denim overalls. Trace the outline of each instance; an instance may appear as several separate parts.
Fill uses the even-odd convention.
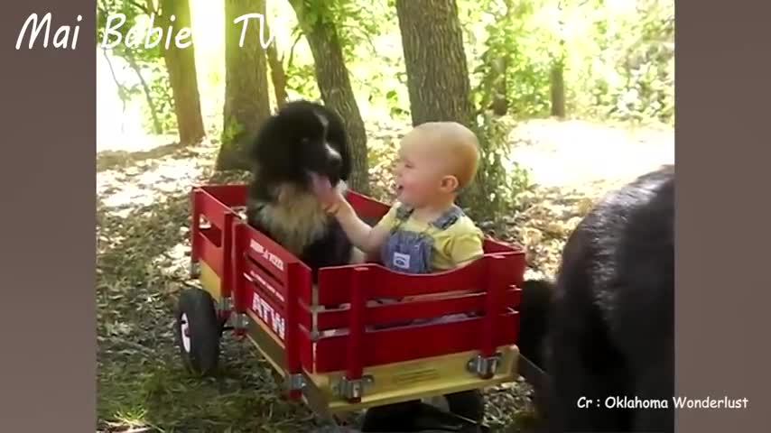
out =
[[[389,229],[396,226],[399,220],[396,217],[395,204],[388,210],[377,226],[385,226]],[[482,242],[484,234],[474,224],[474,221],[466,215],[460,216],[451,226],[443,230],[432,226],[430,223],[419,221],[412,215],[402,222],[402,230],[425,233],[433,239],[432,271],[441,272],[456,268],[478,259],[484,253]]]

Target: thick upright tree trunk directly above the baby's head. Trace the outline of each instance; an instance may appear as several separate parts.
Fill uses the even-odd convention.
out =
[[[396,0],[413,125],[474,126],[469,67],[455,0]]]

